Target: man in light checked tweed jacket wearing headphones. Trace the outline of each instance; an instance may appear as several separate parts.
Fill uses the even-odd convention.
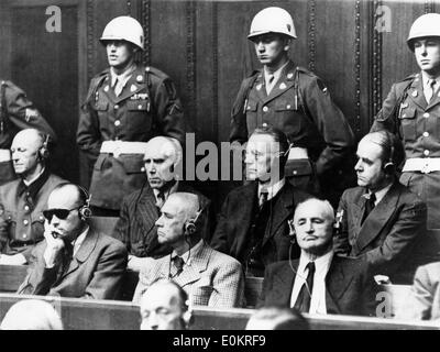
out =
[[[212,250],[204,242],[198,227],[204,208],[194,194],[172,194],[156,221],[160,243],[173,248],[169,255],[142,267],[133,301],[155,282],[173,279],[188,294],[190,304],[210,307],[243,306],[244,275],[233,257]]]

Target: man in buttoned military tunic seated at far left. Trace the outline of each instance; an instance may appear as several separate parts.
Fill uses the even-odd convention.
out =
[[[47,197],[64,180],[46,167],[48,136],[35,129],[20,131],[11,155],[18,179],[0,186],[0,264],[21,265],[43,240]]]

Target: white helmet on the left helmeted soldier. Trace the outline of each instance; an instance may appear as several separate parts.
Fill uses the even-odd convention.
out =
[[[121,15],[111,20],[103,29],[102,36],[106,41],[127,41],[144,50],[144,30],[141,23],[129,15]]]

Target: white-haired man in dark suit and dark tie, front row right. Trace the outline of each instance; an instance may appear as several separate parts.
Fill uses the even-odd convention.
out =
[[[367,263],[334,255],[333,224],[333,208],[327,200],[310,198],[298,205],[294,233],[301,249],[299,261],[267,266],[260,305],[309,314],[374,314],[377,285]]]

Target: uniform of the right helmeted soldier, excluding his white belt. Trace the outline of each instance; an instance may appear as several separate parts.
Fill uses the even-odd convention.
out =
[[[440,92],[426,101],[421,74],[396,82],[375,117],[371,131],[398,134],[406,158],[440,157]],[[440,172],[404,172],[400,183],[428,206],[428,229],[440,229]]]

